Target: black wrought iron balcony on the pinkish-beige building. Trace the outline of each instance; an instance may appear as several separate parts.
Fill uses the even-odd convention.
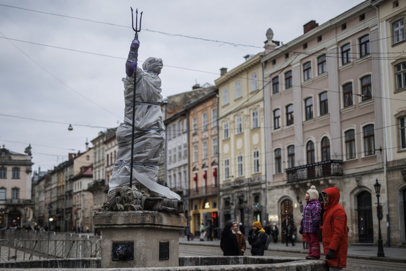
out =
[[[342,160],[328,160],[286,169],[287,183],[342,175]]]

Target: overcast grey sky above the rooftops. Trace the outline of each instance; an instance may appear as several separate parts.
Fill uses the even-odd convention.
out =
[[[0,0],[0,145],[31,144],[33,170],[45,171],[122,121],[130,6],[143,11],[138,60],[162,58],[166,97],[214,84],[220,68],[263,51],[270,27],[287,43],[361,2]]]

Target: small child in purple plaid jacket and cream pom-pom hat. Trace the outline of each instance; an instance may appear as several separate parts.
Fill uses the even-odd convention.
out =
[[[312,185],[304,195],[306,206],[303,208],[303,218],[300,221],[299,234],[305,236],[308,244],[307,260],[320,259],[320,212],[319,192]],[[304,247],[304,244],[303,244]]]

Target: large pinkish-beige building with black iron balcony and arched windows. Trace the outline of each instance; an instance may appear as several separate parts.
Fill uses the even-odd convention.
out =
[[[298,228],[310,186],[336,186],[349,242],[374,243],[376,179],[388,204],[377,10],[364,1],[303,27],[303,35],[262,58],[269,218],[279,232]]]

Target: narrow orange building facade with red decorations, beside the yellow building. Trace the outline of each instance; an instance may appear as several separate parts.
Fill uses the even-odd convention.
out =
[[[213,229],[212,237],[219,236],[218,214],[218,89],[186,105],[189,123],[189,213],[190,230],[200,233],[199,226]]]

